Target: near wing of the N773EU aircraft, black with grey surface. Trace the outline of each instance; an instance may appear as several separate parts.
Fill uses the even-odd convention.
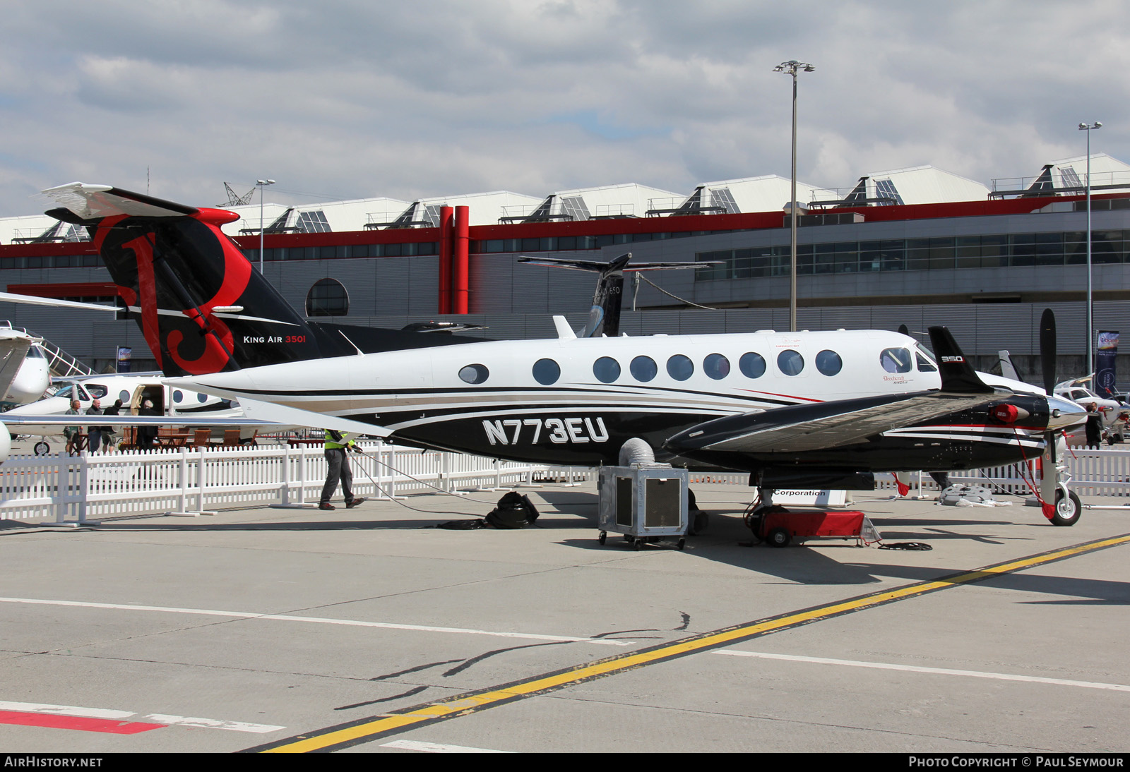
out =
[[[835,448],[1005,396],[1007,393],[931,391],[775,407],[699,423],[671,437],[667,447],[676,453],[799,453]]]

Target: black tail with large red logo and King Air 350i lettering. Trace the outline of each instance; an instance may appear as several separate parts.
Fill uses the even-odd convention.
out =
[[[47,214],[86,226],[168,376],[202,375],[354,353],[306,322],[220,230],[238,218],[107,185],[44,191]]]

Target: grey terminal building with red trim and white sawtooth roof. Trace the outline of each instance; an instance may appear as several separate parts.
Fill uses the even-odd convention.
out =
[[[1095,328],[1130,331],[1130,166],[1099,153],[1090,167]],[[1032,374],[1036,324],[1052,308],[1060,371],[1081,374],[1086,168],[1086,157],[1068,158],[990,185],[930,166],[868,174],[843,188],[798,182],[799,326],[946,324],[983,368],[1009,349]],[[629,183],[545,196],[264,203],[262,220],[259,204],[236,204],[224,205],[240,214],[224,230],[296,308],[349,324],[458,315],[485,324],[487,337],[551,336],[550,315],[581,326],[593,274],[518,258],[631,252],[636,261],[709,264],[627,279],[621,331],[785,330],[790,195],[789,181],[770,175],[689,193]],[[85,228],[43,214],[0,219],[0,281],[45,297],[113,302],[116,295]],[[120,345],[133,348],[134,369],[153,365],[132,322],[95,315],[6,304],[2,317],[96,369]]]

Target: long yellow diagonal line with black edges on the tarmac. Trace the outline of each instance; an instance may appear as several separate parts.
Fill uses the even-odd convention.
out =
[[[554,673],[547,673],[533,678],[518,681],[501,686],[495,686],[481,692],[462,694],[436,702],[425,703],[416,708],[408,708],[403,711],[388,713],[384,716],[370,717],[348,725],[328,727],[316,735],[299,735],[285,740],[279,740],[270,745],[249,748],[250,752],[262,753],[310,753],[313,751],[333,751],[359,743],[367,743],[392,734],[399,734],[409,727],[425,723],[433,723],[458,716],[466,716],[488,708],[495,708],[514,700],[520,700],[534,694],[554,692],[566,686],[592,681],[603,676],[623,673],[633,668],[655,663],[666,661],[676,657],[684,657],[697,651],[716,649],[729,646],[738,641],[757,638],[789,628],[825,620],[833,616],[841,616],[852,612],[871,608],[896,600],[918,597],[927,593],[935,593],[951,587],[960,587],[977,581],[984,581],[1006,573],[1022,571],[1035,565],[1043,565],[1058,560],[1074,558],[1095,550],[1116,546],[1130,542],[1130,534],[1112,538],[1098,539],[1085,544],[1053,550],[1038,555],[1031,555],[1019,560],[989,565],[964,573],[955,573],[941,579],[916,582],[893,590],[883,590],[863,595],[847,600],[838,600],[824,606],[817,606],[800,612],[784,614],[777,617],[749,622],[732,628],[715,630],[713,632],[692,635],[673,643],[660,643],[646,649],[641,649],[631,653],[598,659],[597,661],[576,667],[570,667]]]

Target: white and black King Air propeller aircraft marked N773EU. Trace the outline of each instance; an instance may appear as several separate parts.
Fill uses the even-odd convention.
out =
[[[555,317],[556,339],[484,341],[310,322],[220,231],[232,212],[105,185],[44,193],[63,207],[49,214],[93,228],[167,383],[281,405],[288,423],[579,466],[617,464],[640,438],[661,460],[748,472],[767,506],[779,488],[1031,460],[1085,420],[975,372],[945,327],[936,358],[885,331],[577,336]],[[1078,499],[1060,492],[1044,512],[1071,525]]]

